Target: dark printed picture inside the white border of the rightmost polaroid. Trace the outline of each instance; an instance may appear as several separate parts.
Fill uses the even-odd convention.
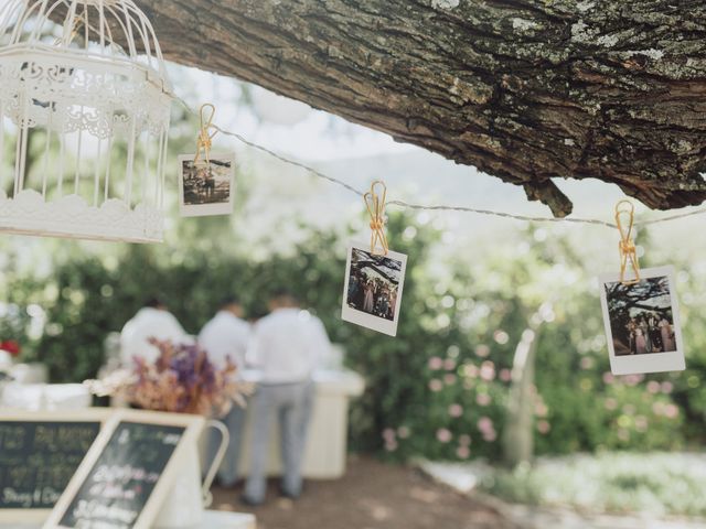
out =
[[[676,350],[668,277],[609,282],[605,288],[617,356]]]

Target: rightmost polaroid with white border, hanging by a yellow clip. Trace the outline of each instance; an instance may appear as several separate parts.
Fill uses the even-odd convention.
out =
[[[640,271],[640,282],[622,284],[603,274],[600,301],[613,375],[681,371],[684,343],[673,267]]]

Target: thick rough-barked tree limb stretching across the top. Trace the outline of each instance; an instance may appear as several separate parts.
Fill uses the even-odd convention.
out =
[[[167,58],[523,185],[706,199],[703,0],[137,0]]]

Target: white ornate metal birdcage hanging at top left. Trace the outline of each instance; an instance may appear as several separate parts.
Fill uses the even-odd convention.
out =
[[[169,91],[132,0],[0,0],[0,233],[162,240]]]

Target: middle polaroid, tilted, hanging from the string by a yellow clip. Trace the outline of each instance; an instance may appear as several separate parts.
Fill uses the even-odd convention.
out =
[[[407,256],[395,251],[378,256],[370,249],[360,244],[349,247],[342,319],[396,336]]]

